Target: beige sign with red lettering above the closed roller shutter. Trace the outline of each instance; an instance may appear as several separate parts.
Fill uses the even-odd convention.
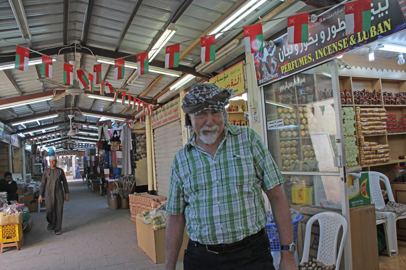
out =
[[[151,126],[157,128],[159,126],[180,119],[180,98],[174,99],[166,103],[161,108],[152,111]]]

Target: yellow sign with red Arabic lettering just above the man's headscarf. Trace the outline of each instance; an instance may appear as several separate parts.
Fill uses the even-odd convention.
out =
[[[215,84],[220,88],[231,89],[232,97],[245,93],[244,61],[214,76],[207,83]]]

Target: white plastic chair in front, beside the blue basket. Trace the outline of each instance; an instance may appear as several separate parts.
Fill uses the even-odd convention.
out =
[[[303,256],[301,262],[309,260],[310,237],[312,225],[319,221],[320,239],[316,260],[325,265],[335,264],[335,269],[340,268],[341,255],[343,254],[344,242],[347,235],[347,220],[340,214],[333,212],[321,212],[312,216],[306,224],[306,235],[304,236]],[[337,254],[337,241],[339,239],[340,228],[343,227],[339,253]]]

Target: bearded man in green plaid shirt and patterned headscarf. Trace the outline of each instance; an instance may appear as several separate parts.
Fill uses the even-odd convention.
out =
[[[184,269],[274,269],[261,190],[279,229],[280,269],[297,269],[285,181],[258,134],[228,124],[232,92],[193,84],[182,100],[194,134],[171,168],[166,269],[175,269],[186,224]]]

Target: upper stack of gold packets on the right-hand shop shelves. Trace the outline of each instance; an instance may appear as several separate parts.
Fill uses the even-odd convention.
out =
[[[358,135],[381,135],[386,131],[385,108],[355,108]]]

